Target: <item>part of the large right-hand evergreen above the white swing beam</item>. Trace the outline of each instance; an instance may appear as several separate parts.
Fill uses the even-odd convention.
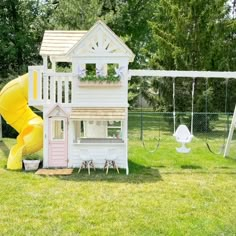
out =
[[[227,18],[227,0],[160,0],[150,21],[151,64],[165,69],[226,70],[221,56],[228,44]]]

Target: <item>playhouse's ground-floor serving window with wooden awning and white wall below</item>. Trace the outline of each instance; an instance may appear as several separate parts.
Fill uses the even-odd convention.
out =
[[[128,174],[127,108],[72,108],[69,122],[68,167],[80,167],[83,154],[95,168],[104,168],[106,160],[115,159]]]

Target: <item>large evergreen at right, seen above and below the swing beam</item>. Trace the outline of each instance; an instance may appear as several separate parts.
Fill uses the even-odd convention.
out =
[[[160,0],[156,7],[155,16],[149,21],[152,40],[146,50],[150,67],[169,70],[235,69],[235,63],[232,63],[235,60],[235,40],[229,37],[232,22],[227,0]],[[219,96],[224,94],[223,85],[224,80],[211,80],[209,84],[213,89],[212,107],[215,111],[224,108]],[[165,89],[167,93],[163,96],[170,101],[172,96],[168,91],[172,91],[172,83],[169,82],[167,87],[169,89]],[[191,99],[178,101],[183,91],[187,91],[187,97],[191,98],[191,81],[179,80],[177,87],[181,88],[176,94],[177,110],[191,110]],[[196,80],[196,87],[195,98],[200,98],[204,93],[204,80]],[[199,108],[202,106],[198,101],[196,104]]]

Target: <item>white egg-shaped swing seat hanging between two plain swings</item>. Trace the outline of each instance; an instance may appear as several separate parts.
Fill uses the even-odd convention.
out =
[[[192,141],[193,135],[190,133],[188,127],[186,125],[179,125],[173,136],[176,138],[177,142],[182,144],[181,147],[176,148],[176,151],[180,153],[189,153],[191,149],[187,148],[185,144]]]

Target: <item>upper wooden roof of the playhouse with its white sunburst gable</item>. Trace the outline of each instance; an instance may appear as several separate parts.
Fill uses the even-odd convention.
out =
[[[89,31],[45,31],[40,55],[71,58],[74,56],[128,57],[134,54],[102,21]]]

